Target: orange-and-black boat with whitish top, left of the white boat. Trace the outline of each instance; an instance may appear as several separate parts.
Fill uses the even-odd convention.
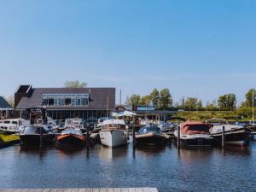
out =
[[[56,138],[56,146],[84,146],[85,137],[79,128],[68,127]]]

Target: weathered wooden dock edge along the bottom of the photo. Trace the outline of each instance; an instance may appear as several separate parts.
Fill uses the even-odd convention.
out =
[[[156,188],[0,189],[0,192],[158,192]]]

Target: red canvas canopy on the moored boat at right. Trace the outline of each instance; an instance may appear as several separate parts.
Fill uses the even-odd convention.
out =
[[[181,125],[181,131],[183,134],[208,134],[212,124],[188,121]]]

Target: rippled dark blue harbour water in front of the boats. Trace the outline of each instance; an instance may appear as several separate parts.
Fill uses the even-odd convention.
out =
[[[55,147],[0,149],[0,188],[156,187],[169,191],[256,191],[256,143],[246,149]]]

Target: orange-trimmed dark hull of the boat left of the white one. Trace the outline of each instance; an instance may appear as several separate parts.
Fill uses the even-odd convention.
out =
[[[85,138],[79,135],[67,134],[57,137],[57,146],[84,146]]]

